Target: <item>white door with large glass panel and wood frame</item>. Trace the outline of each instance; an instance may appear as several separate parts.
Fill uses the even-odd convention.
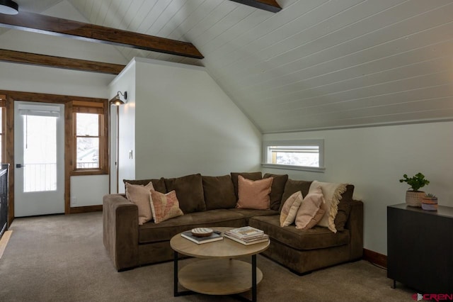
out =
[[[16,217],[64,213],[64,106],[14,104]]]

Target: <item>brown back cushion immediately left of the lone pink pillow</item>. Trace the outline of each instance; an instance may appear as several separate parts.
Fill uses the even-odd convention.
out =
[[[231,181],[229,175],[221,177],[202,176],[202,184],[207,210],[234,208],[236,206],[233,181]]]

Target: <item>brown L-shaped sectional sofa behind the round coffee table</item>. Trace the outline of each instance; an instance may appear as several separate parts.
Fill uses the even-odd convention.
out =
[[[241,227],[251,225],[270,235],[270,247],[263,255],[275,260],[297,274],[304,274],[362,257],[363,203],[354,201],[354,186],[348,185],[338,205],[335,224],[337,233],[315,226],[299,230],[295,225],[280,227],[282,203],[296,191],[306,196],[311,181],[288,179],[287,175],[265,174],[274,177],[270,193],[270,210],[235,208],[238,175],[257,180],[261,172],[231,173],[222,177],[201,174],[174,179],[125,180],[130,184],[148,184],[167,193],[175,190],[184,215],[139,225],[138,208],[124,194],[109,194],[103,198],[103,242],[115,268],[120,272],[144,264],[173,259],[170,239],[185,230],[198,227]]]

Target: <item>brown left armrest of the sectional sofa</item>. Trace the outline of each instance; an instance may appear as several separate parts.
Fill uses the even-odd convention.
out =
[[[138,208],[122,194],[103,197],[103,242],[118,272],[139,265]]]

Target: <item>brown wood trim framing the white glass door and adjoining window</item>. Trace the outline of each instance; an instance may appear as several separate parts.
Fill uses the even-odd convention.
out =
[[[0,94],[6,95],[6,130],[4,133],[6,143],[6,163],[10,164],[9,173],[9,201],[8,201],[8,223],[14,220],[14,100],[33,101],[42,103],[64,104],[64,135],[72,133],[72,101],[87,101],[102,103],[103,106],[108,104],[107,99],[88,98],[84,96],[64,96],[59,94],[40,94],[34,92],[22,91],[4,91]],[[105,113],[108,114],[108,113]],[[72,138],[67,136],[67,138]],[[64,213],[84,213],[87,211],[100,211],[102,206],[82,206],[71,208],[71,172],[74,163],[72,162],[72,139],[65,139],[64,142]],[[108,158],[106,159],[108,160]]]

